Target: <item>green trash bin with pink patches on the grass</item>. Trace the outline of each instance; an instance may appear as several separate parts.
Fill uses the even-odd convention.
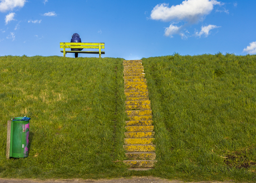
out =
[[[28,157],[29,117],[14,117],[11,122],[9,157]]]

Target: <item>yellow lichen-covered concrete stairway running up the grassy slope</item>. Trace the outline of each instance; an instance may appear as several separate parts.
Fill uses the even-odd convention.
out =
[[[154,126],[144,68],[141,60],[124,61],[123,65],[126,113],[129,117],[124,139],[128,160],[124,162],[131,168],[152,168],[156,162]]]

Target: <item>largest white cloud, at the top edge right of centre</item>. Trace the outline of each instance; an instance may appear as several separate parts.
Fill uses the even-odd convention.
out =
[[[181,4],[170,8],[168,7],[169,4],[157,4],[151,11],[151,19],[196,23],[209,14],[216,4],[221,5],[221,2],[215,0],[185,0]]]

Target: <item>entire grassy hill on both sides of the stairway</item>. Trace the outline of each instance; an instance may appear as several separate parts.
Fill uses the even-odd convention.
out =
[[[143,58],[155,169],[128,171],[121,58],[0,57],[0,177],[256,180],[256,56]],[[26,159],[5,158],[7,120],[31,117]]]

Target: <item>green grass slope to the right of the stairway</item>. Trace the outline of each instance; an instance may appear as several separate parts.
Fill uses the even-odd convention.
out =
[[[256,56],[143,58],[159,176],[256,181]]]

